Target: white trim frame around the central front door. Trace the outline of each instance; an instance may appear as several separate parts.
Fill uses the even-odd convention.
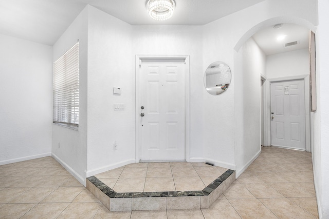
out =
[[[136,55],[135,56],[135,162],[140,161],[140,133],[137,120],[140,111],[139,77],[138,73],[142,60],[148,59],[182,59],[185,61],[185,160],[190,161],[190,55]]]

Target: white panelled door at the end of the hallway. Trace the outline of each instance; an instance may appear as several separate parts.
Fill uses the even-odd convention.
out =
[[[271,82],[271,145],[306,150],[304,80]]]

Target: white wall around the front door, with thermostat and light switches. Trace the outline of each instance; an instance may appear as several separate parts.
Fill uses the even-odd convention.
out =
[[[93,7],[88,21],[87,175],[136,162],[135,55],[141,54],[190,55],[190,157],[203,158],[202,28],[131,26]],[[113,87],[122,94],[113,94]],[[124,103],[125,110],[114,111],[114,103]]]

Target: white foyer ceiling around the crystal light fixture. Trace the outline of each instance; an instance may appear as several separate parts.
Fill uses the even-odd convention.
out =
[[[146,0],[0,0],[0,33],[52,46],[92,5],[131,25],[204,25],[264,0],[175,0],[174,15],[158,22]]]

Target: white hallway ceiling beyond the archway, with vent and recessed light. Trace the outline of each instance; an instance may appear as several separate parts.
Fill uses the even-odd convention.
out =
[[[285,36],[285,38],[278,40],[279,36]],[[266,27],[252,37],[266,55],[272,55],[308,48],[309,29],[296,24],[282,24],[279,29],[273,26]],[[284,44],[295,41],[300,44],[284,47]]]

